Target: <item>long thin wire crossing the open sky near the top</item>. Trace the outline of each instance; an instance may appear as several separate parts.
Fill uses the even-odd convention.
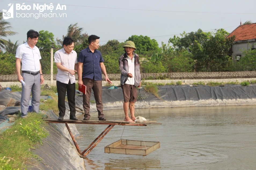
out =
[[[20,0],[11,0],[20,1]],[[32,3],[44,3],[44,2],[33,2],[33,1],[21,1],[21,2],[32,2]],[[53,3],[57,5],[57,3]],[[166,11],[166,10],[149,10],[149,9],[129,9],[129,8],[111,8],[111,7],[99,7],[99,6],[84,6],[84,5],[68,5],[66,6],[78,6],[78,7],[90,7],[90,8],[104,8],[104,9],[121,9],[121,10],[136,10],[136,11],[156,11],[156,12],[180,12],[180,13],[208,13],[208,14],[256,14],[256,13],[229,13],[229,12],[200,12],[200,11]]]

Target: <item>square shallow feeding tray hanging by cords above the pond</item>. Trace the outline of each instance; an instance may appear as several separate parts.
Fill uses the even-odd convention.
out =
[[[158,148],[160,148],[160,142],[120,139],[108,146],[105,146],[105,153],[147,156]]]

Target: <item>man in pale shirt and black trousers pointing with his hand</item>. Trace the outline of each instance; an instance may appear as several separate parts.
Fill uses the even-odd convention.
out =
[[[78,120],[75,116],[75,72],[78,70],[77,55],[74,49],[74,41],[70,37],[63,40],[63,48],[54,54],[54,62],[58,68],[56,84],[58,91],[58,120],[63,120],[66,112],[65,97],[68,96],[68,106],[70,109],[70,119]],[[74,70],[75,68],[75,70]]]

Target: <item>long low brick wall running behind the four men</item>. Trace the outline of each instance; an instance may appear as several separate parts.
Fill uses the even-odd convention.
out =
[[[76,74],[76,80],[78,75]],[[43,75],[45,80],[51,80],[50,74]],[[105,79],[105,76],[102,75]],[[120,80],[120,74],[108,74],[110,80]],[[256,71],[237,71],[237,72],[181,72],[181,73],[141,73],[142,79],[239,79],[256,78]],[[56,80],[56,74],[53,75]],[[17,75],[0,75],[0,82],[16,82]]]

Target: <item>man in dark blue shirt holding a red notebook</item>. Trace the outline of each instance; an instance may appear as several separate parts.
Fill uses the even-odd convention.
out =
[[[96,101],[96,107],[98,110],[99,120],[105,121],[106,118],[103,114],[102,104],[102,75],[105,75],[106,82],[112,84],[108,79],[104,60],[99,48],[100,37],[96,35],[90,35],[88,37],[89,46],[83,49],[78,56],[78,86],[82,84],[86,86],[86,95],[83,94],[83,109],[85,110],[85,118],[83,120],[89,120],[90,115],[90,97],[93,90],[94,98]]]

